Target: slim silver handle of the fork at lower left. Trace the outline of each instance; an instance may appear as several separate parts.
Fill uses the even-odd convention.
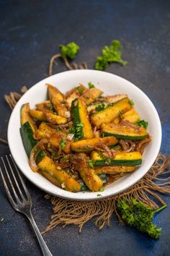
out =
[[[38,242],[39,242],[40,247],[42,249],[42,255],[44,255],[44,256],[53,256],[50,253],[50,250],[48,249],[47,245],[45,244],[45,241],[42,238],[42,235],[40,234],[40,230],[38,229],[37,224],[35,223],[35,220],[32,217],[32,213],[27,214],[27,218],[29,219],[30,223],[32,224],[32,228],[35,231],[35,234],[37,236]]]

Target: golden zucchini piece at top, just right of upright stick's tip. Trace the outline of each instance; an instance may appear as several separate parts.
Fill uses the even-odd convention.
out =
[[[102,90],[99,90],[97,88],[91,88],[86,90],[84,93],[81,94],[80,99],[86,103],[86,105],[89,105],[96,101],[97,98],[102,94]]]

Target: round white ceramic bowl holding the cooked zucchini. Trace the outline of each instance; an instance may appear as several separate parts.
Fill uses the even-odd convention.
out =
[[[50,83],[51,85],[56,86],[63,93],[66,93],[66,91],[79,85],[79,83],[88,86],[88,82],[90,81],[93,82],[97,88],[103,90],[104,95],[114,95],[117,93],[128,94],[129,98],[133,99],[135,102],[135,108],[138,111],[141,119],[148,121],[148,132],[152,137],[152,141],[145,148],[142,165],[139,166],[133,173],[128,174],[119,179],[117,182],[108,185],[105,187],[104,192],[73,193],[56,187],[43,176],[32,172],[30,169],[28,158],[24,151],[22,139],[19,133],[20,108],[22,104],[27,102],[30,103],[31,108],[34,108],[36,103],[44,101],[47,98],[47,86],[45,83]],[[22,96],[12,111],[12,115],[9,119],[8,142],[17,166],[19,166],[24,176],[26,176],[27,179],[29,179],[30,182],[35,184],[37,187],[52,195],[71,200],[95,200],[117,195],[138,182],[138,180],[147,173],[149,168],[153,165],[161,146],[161,122],[156,108],[153,106],[150,99],[145,93],[143,93],[142,90],[128,80],[107,72],[96,70],[73,70],[54,74],[51,77],[37,82],[36,85],[32,86],[32,88],[30,88],[30,90],[28,90],[27,93]],[[98,194],[102,195],[102,197],[97,196]]]

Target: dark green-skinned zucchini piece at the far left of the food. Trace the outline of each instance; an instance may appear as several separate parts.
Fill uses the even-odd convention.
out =
[[[24,150],[27,153],[27,156],[30,157],[32,148],[34,148],[37,144],[37,140],[35,140],[33,137],[34,134],[30,125],[30,121],[26,121],[24,124],[22,124],[22,127],[20,127],[20,134],[22,137]]]

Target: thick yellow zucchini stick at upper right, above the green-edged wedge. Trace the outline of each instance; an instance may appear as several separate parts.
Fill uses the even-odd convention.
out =
[[[108,106],[102,111],[91,115],[91,123],[99,128],[101,124],[108,124],[112,122],[117,116],[129,111],[132,108],[129,98],[123,98],[117,101],[112,106]]]

